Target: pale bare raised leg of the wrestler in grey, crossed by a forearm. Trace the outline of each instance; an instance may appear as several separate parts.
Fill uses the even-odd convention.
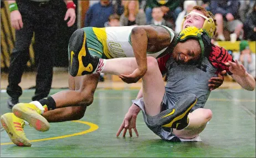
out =
[[[107,60],[103,72],[114,75],[128,75],[137,69],[137,67],[134,57],[117,58]],[[165,83],[162,80],[157,60],[153,57],[147,57],[147,72],[142,77],[142,88],[146,113],[151,116],[159,114],[162,98],[165,94]]]

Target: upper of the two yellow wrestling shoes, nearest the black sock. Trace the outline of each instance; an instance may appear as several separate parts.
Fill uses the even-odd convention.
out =
[[[30,126],[38,131],[47,131],[50,128],[50,124],[41,114],[44,109],[39,109],[33,103],[18,103],[12,108],[13,114],[18,118],[24,119]],[[45,109],[45,111],[47,111]]]

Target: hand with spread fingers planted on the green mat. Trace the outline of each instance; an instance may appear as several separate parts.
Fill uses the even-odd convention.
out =
[[[136,118],[137,118],[137,113],[133,112],[133,110],[130,110],[126,113],[124,120],[122,121],[122,124],[119,128],[119,130],[116,133],[116,136],[119,136],[121,131],[124,129],[122,136],[125,136],[127,129],[129,129],[129,134],[132,136],[132,130],[134,129],[135,134],[139,136],[139,133],[136,129]]]

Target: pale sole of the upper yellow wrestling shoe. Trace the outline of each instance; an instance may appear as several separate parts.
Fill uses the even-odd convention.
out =
[[[27,110],[25,112],[22,110],[22,105],[16,105],[12,108],[12,111],[16,117],[24,119],[38,131],[48,131],[50,128],[50,124],[42,115],[38,114],[37,112],[32,112]]]

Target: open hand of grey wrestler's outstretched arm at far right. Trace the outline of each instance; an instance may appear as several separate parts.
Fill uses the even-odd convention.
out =
[[[229,71],[235,75],[240,77],[244,77],[247,75],[247,71],[245,70],[244,66],[235,60],[235,62],[228,61],[225,65],[229,66]]]

